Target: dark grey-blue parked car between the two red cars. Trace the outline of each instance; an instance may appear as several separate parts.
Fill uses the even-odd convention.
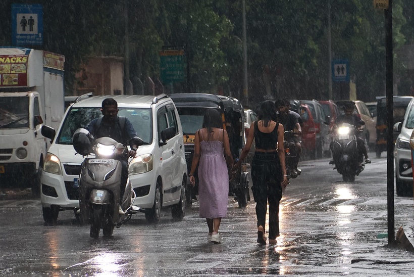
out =
[[[300,103],[306,104],[309,107],[315,121],[316,157],[322,158],[324,155],[330,155],[331,136],[329,134],[329,125],[325,123],[327,117],[322,105],[316,100],[300,100]]]

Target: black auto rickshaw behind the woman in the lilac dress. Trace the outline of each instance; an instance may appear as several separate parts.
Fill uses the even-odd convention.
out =
[[[229,135],[230,151],[233,159],[238,159],[245,141],[244,110],[237,99],[211,94],[172,94],[170,97],[174,101],[180,115],[188,172],[191,169],[194,154],[195,133],[202,128],[204,113],[209,108],[220,111],[223,118],[223,129]],[[195,186],[192,188],[192,191],[187,192],[187,205],[191,205],[192,199],[196,199],[196,195],[198,195],[197,169],[194,172],[194,177]],[[245,164],[242,165],[240,172],[230,179],[229,185],[229,195],[237,199],[239,207],[246,207],[247,202],[250,200],[250,194],[248,172]]]

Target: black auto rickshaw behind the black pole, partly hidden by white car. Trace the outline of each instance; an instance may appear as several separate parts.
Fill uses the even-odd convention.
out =
[[[412,96],[394,96],[394,122],[404,121],[405,110]],[[381,152],[387,150],[387,100],[384,97],[377,97],[377,140],[375,146],[375,153],[377,158],[381,157]],[[398,133],[394,133],[394,144],[397,140]]]

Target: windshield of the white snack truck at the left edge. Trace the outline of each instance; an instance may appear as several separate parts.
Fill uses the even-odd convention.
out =
[[[0,98],[0,129],[29,128],[29,97]]]

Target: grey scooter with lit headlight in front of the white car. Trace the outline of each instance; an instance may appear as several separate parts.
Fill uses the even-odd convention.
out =
[[[120,227],[139,210],[132,205],[136,196],[129,178],[121,195],[120,160],[128,155],[127,143],[141,146],[143,141],[139,137],[133,137],[125,144],[110,137],[95,140],[82,128],[75,131],[72,140],[75,151],[86,156],[79,176],[81,216],[90,223],[91,238],[97,238],[100,229],[103,236],[111,237],[115,226]],[[123,214],[120,213],[120,206]]]

